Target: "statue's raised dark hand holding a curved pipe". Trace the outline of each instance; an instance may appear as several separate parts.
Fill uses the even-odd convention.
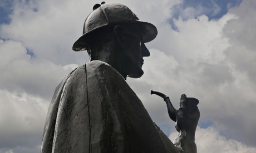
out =
[[[185,94],[181,95],[179,109],[176,110],[171,104],[168,96],[163,93],[152,91],[164,99],[168,114],[171,120],[176,122],[176,130],[179,132],[178,137],[174,141],[174,145],[180,152],[196,152],[195,130],[200,118],[198,109],[199,100],[195,98],[187,98]]]

